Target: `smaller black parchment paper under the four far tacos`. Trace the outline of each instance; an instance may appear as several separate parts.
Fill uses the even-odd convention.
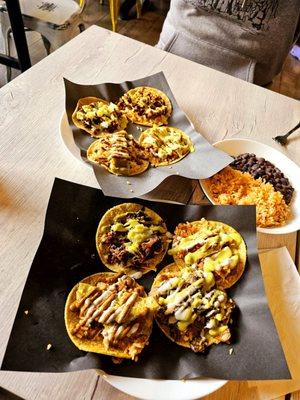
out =
[[[88,133],[77,128],[73,124],[72,114],[76,108],[77,101],[82,97],[94,96],[117,102],[119,97],[125,92],[137,86],[152,86],[162,90],[170,98],[173,106],[173,112],[169,119],[169,126],[174,126],[183,130],[190,136],[194,143],[195,152],[190,153],[178,163],[172,164],[171,168],[169,168],[169,166],[148,168],[147,171],[136,176],[126,177],[112,175],[101,166],[92,164],[96,179],[105,195],[123,198],[142,196],[155,189],[169,176],[179,175],[190,179],[205,179],[219,172],[232,161],[232,158],[228,154],[215,149],[206,139],[195,131],[192,123],[179,108],[163,72],[123,83],[79,85],[67,79],[65,79],[64,82],[68,121],[72,129],[75,144],[80,149],[81,157],[85,161],[87,161],[86,150],[96,139],[91,138]],[[141,128],[141,126],[139,126],[139,128]],[[148,127],[142,127],[143,130],[147,128]],[[136,124],[129,123],[126,130],[132,133],[136,139],[138,139],[138,136],[141,134]],[[131,183],[130,186],[127,184],[128,180]]]

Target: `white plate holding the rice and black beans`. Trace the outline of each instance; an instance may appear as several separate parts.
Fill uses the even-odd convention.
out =
[[[257,157],[263,157],[278,167],[289,179],[295,191],[291,201],[291,216],[284,226],[276,228],[260,228],[258,232],[269,234],[285,234],[296,232],[300,229],[300,168],[280,151],[266,144],[249,139],[225,139],[216,142],[213,146],[226,153],[237,156],[242,153],[254,153]],[[216,204],[210,196],[206,181],[200,180],[203,192],[212,204]]]

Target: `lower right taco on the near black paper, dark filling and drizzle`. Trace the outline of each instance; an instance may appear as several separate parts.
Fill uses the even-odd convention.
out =
[[[235,304],[213,285],[211,272],[171,264],[158,273],[149,294],[159,304],[155,319],[164,334],[196,353],[231,337]]]

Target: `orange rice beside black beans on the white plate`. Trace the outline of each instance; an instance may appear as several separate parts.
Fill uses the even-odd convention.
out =
[[[290,209],[282,194],[247,172],[226,167],[206,182],[217,204],[256,205],[257,226],[281,226],[289,217]]]

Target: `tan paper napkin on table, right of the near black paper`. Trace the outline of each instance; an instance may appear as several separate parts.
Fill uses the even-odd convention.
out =
[[[292,375],[291,380],[248,382],[256,388],[257,400],[271,400],[300,390],[300,276],[286,247],[259,258],[270,310]]]

